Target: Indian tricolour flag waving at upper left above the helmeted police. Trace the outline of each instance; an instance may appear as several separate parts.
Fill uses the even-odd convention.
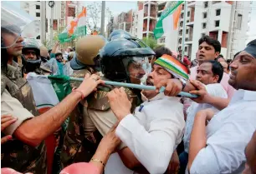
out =
[[[86,7],[83,7],[82,12],[59,34],[59,41],[69,42],[84,35],[86,35]]]

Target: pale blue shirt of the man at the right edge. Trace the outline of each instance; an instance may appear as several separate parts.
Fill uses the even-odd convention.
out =
[[[242,173],[244,149],[256,129],[256,92],[238,90],[228,107],[207,125],[207,147],[200,150],[190,174]]]

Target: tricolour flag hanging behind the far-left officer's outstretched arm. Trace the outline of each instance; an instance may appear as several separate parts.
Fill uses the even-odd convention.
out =
[[[43,114],[51,107],[56,106],[64,99],[64,97],[72,92],[69,77],[66,76],[44,76],[30,72],[26,78],[30,87],[32,88],[33,98],[40,114]],[[59,171],[61,169],[60,152],[63,146],[64,135],[68,124],[69,118],[66,119],[66,121],[61,125],[58,147],[55,146],[56,140],[54,135],[50,135],[46,138],[45,143],[47,147],[47,161],[49,170],[52,170],[52,167],[54,167],[55,171]]]

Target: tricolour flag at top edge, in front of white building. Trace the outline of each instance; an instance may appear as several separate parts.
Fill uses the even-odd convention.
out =
[[[161,17],[156,23],[156,28],[154,29],[156,39],[162,37],[166,32],[177,30],[177,25],[182,12],[182,2],[184,1],[166,2],[166,7],[164,11],[161,12]]]

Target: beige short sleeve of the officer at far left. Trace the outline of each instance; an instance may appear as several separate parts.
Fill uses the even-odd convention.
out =
[[[12,114],[13,117],[18,118],[16,122],[3,131],[6,135],[12,135],[25,120],[33,117],[33,114],[28,112],[28,110],[25,109],[16,98],[12,97],[6,89],[1,95],[1,105],[1,116]]]

